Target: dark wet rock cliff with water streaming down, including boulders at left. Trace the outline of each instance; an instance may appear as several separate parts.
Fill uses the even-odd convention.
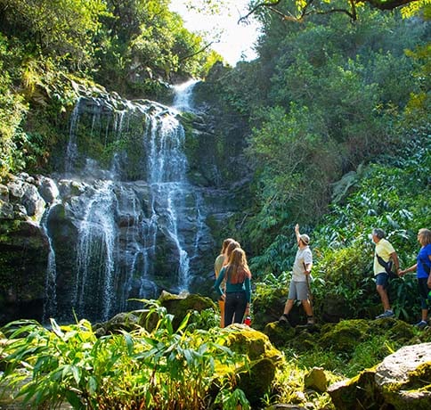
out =
[[[13,243],[29,258],[28,226],[18,221],[34,224],[27,242],[37,260],[21,259],[32,269],[26,275],[45,283],[45,295],[35,296],[45,297],[45,317],[69,321],[75,311],[105,320],[133,308],[129,299],[154,299],[163,290],[212,294],[223,240],[217,235],[241,206],[231,190],[232,181],[244,180],[235,159],[240,125],[231,129],[235,146],[226,156],[215,150],[217,124],[197,115],[184,129],[180,118],[157,102],[94,90],[71,113],[57,174],[21,174],[0,185],[0,224],[11,222],[0,246]],[[11,253],[4,260],[8,277],[19,259]],[[40,310],[33,309],[37,319]]]

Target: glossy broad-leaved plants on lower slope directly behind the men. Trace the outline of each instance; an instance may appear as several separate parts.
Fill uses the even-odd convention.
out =
[[[336,312],[338,317],[370,317],[374,307],[381,308],[372,274],[374,244],[369,235],[373,227],[386,231],[401,266],[415,263],[419,250],[417,232],[429,223],[429,141],[425,129],[417,130],[416,139],[396,152],[394,158],[382,159],[385,165],[374,164],[362,169],[350,186],[350,194],[334,204],[311,232],[317,316],[324,316],[329,313],[329,307],[338,306],[342,307]],[[277,236],[262,256],[252,259],[255,264],[252,266],[255,269],[270,266],[276,273],[274,266],[284,267],[288,261],[285,269],[290,269],[295,252],[293,242],[293,234]],[[281,243],[282,249],[278,248]],[[264,285],[257,284],[257,299],[261,296],[271,299],[270,294],[275,295],[286,287],[284,276],[277,281],[270,274],[261,280]],[[414,275],[406,275],[392,281],[388,290],[395,315],[409,322],[416,322],[420,311],[416,282]]]

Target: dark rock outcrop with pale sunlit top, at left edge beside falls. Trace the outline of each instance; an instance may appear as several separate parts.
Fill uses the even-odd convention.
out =
[[[0,324],[43,316],[49,242],[39,221],[39,180],[9,176],[0,187]]]

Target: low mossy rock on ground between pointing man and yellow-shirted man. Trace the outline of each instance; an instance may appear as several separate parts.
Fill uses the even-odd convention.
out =
[[[351,353],[369,334],[369,330],[369,324],[363,319],[344,320],[333,326],[326,324],[321,328],[323,335],[320,344],[336,352]]]

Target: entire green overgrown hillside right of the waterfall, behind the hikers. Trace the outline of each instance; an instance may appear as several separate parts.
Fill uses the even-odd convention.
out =
[[[289,12],[288,2],[278,3]],[[225,235],[252,256],[255,277],[272,290],[265,297],[286,288],[296,222],[313,238],[321,314],[327,299],[349,307],[345,316],[370,317],[379,308],[370,275],[373,227],[386,231],[403,266],[413,263],[417,231],[429,225],[423,15],[403,19],[362,7],[354,24],[332,13],[298,25],[262,12],[259,59],[210,71],[208,94],[226,117],[236,112],[234,121],[247,119],[252,128],[243,142],[255,170],[250,206]],[[396,314],[416,320],[414,279],[395,281],[390,293]]]

